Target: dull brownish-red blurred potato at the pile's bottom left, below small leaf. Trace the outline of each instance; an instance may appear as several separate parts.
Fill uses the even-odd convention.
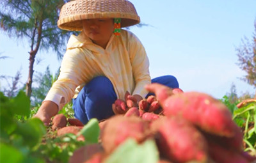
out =
[[[96,153],[103,152],[103,148],[100,144],[86,144],[74,151],[72,157],[70,157],[68,163],[83,163],[92,159]]]

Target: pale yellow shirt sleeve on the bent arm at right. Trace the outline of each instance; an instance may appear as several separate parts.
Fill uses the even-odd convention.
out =
[[[129,50],[131,52],[132,74],[135,81],[132,95],[140,95],[145,98],[148,91],[144,87],[146,84],[151,83],[148,69],[149,61],[145,48],[135,35],[131,35],[131,38],[129,38]]]

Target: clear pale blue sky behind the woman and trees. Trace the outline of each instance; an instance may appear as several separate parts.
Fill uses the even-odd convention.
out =
[[[252,39],[256,20],[256,1],[205,0],[131,0],[143,27],[131,27],[143,43],[150,60],[150,74],[175,75],[184,91],[200,91],[221,98],[236,85],[237,94],[255,93],[255,88],[241,81],[246,75],[236,65],[236,47],[246,36]],[[29,45],[8,38],[0,31],[0,75],[14,76],[22,70],[26,82]],[[35,72],[50,66],[55,73],[60,61],[52,52],[40,52]],[[1,87],[6,83],[0,81]]]

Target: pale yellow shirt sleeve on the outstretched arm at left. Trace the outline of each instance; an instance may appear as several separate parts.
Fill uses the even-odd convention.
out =
[[[83,54],[79,48],[68,49],[61,62],[60,75],[47,93],[45,100],[51,100],[58,109],[67,104],[74,96],[74,91],[84,81]]]

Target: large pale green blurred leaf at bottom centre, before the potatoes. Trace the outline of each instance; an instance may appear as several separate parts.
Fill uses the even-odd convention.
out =
[[[105,163],[156,163],[158,160],[157,146],[153,140],[137,144],[134,139],[127,139],[116,148]]]

